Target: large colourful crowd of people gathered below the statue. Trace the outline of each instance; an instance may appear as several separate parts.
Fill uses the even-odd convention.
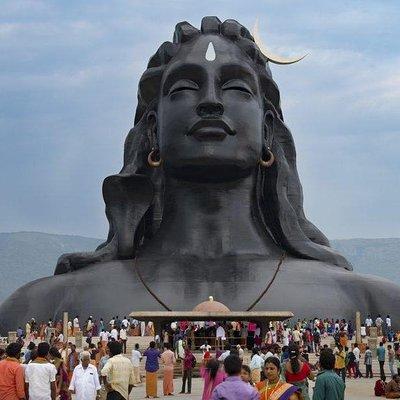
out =
[[[380,379],[375,384],[375,394],[400,398],[400,335],[393,333],[389,316],[371,321],[368,316],[365,326],[369,329],[365,334],[375,326],[382,338],[376,350]],[[41,332],[38,327],[43,328],[43,323],[37,326],[32,319],[25,332],[18,332],[17,342],[9,344],[5,354],[0,350],[0,357],[5,358],[0,361],[0,399],[42,400],[59,396],[67,400],[72,394],[79,400],[127,399],[132,388],[142,383],[143,357],[147,397],[158,396],[160,369],[163,394],[176,393],[173,378],[177,365],[182,372],[179,393],[186,394],[192,391],[193,371],[199,367],[204,381],[202,400],[308,400],[310,381],[315,382],[313,400],[344,399],[346,378],[363,376],[360,363],[364,350],[365,376],[373,377],[374,354],[368,346],[351,343],[354,328],[345,320],[315,318],[298,320],[291,326],[274,323],[262,336],[261,327],[251,322],[180,321],[164,326],[160,335],[149,323],[144,325],[143,335],[155,340],[144,352],[136,344],[128,357],[123,356],[127,337],[132,330],[135,336],[142,335],[140,321],[113,317],[106,326],[103,319],[97,324],[89,317],[81,326],[79,316],[75,316],[68,323],[68,336],[83,331],[86,342],[80,353],[73,343],[64,340],[60,322],[54,324],[49,320],[45,325]],[[95,336],[99,337],[96,344],[92,343]],[[334,338],[335,346],[322,344],[327,336]],[[36,345],[37,339],[43,341]],[[393,344],[385,346],[386,341]],[[23,346],[26,350],[21,355]],[[195,350],[201,351],[201,361]],[[247,351],[251,352],[250,358]],[[313,357],[314,363],[311,353],[318,357]],[[386,360],[392,378],[388,383]],[[39,396],[43,385],[45,395]],[[240,396],[234,397],[238,393]]]

